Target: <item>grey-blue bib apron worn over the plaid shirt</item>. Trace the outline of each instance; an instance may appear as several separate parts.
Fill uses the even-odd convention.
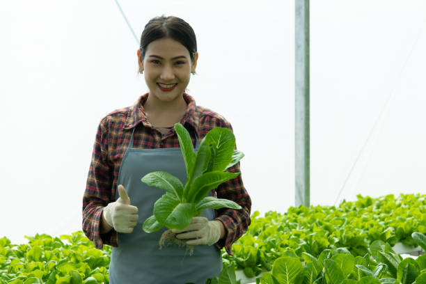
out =
[[[123,184],[130,203],[138,207],[139,220],[132,233],[118,232],[118,247],[113,247],[111,252],[109,281],[111,284],[204,284],[206,278],[219,276],[222,270],[221,253],[216,246],[194,246],[193,255],[174,244],[160,250],[159,239],[167,228],[149,234],[142,230],[145,219],[153,214],[155,201],[166,191],[149,187],[141,182],[141,178],[153,171],[166,171],[185,184],[187,171],[180,148],[133,148],[134,129],[121,162],[117,184]],[[116,199],[118,197],[117,190]],[[214,210],[203,210],[201,216],[213,220]]]

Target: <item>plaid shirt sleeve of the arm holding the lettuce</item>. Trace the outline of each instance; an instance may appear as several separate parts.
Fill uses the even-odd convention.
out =
[[[232,131],[232,126],[225,119],[207,117],[201,124],[204,135],[214,127],[226,127]],[[226,252],[232,255],[232,244],[246,232],[251,223],[251,198],[244,187],[239,163],[228,168],[226,171],[240,174],[236,178],[220,184],[216,189],[216,197],[232,200],[238,203],[242,209],[221,208],[215,210],[216,220],[221,221],[225,227],[225,236],[219,239],[219,242],[215,246],[219,249],[225,247]]]

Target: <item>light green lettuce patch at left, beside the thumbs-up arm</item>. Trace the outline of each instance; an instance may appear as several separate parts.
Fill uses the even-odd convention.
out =
[[[99,250],[81,231],[26,238],[29,244],[19,245],[0,239],[1,284],[109,283],[111,246]]]

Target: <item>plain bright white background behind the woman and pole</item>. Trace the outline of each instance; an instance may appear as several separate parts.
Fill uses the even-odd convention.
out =
[[[232,124],[252,212],[294,205],[294,1],[120,4],[138,37],[163,14],[191,24],[189,94]],[[311,1],[313,205],[425,193],[425,15],[424,0]],[[0,237],[81,230],[97,125],[148,91],[139,45],[112,0],[8,1],[0,35]]]

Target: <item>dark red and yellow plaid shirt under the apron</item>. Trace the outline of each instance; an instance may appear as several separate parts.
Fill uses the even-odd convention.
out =
[[[196,106],[195,100],[184,93],[187,102],[187,111],[180,121],[188,129],[193,144],[195,134],[203,137],[214,127],[232,127],[225,118],[218,113]],[[86,191],[83,196],[83,231],[96,248],[104,244],[118,246],[118,233],[112,229],[106,234],[100,234],[100,219],[104,207],[116,201],[117,178],[120,164],[127,150],[132,129],[141,123],[134,132],[134,148],[178,148],[178,136],[174,129],[170,129],[164,136],[148,121],[143,110],[143,104],[148,98],[148,93],[139,97],[133,107],[118,109],[105,116],[99,127],[93,146],[93,155],[88,172]],[[227,171],[240,172],[239,163]],[[215,191],[215,192],[214,192]],[[242,206],[242,210],[221,208],[215,210],[216,220],[222,221],[225,227],[225,237],[220,239],[215,246],[219,249],[225,246],[226,252],[232,255],[231,246],[246,232],[251,223],[251,198],[244,188],[241,174],[233,180],[224,182],[212,191],[217,198],[233,200]]]

